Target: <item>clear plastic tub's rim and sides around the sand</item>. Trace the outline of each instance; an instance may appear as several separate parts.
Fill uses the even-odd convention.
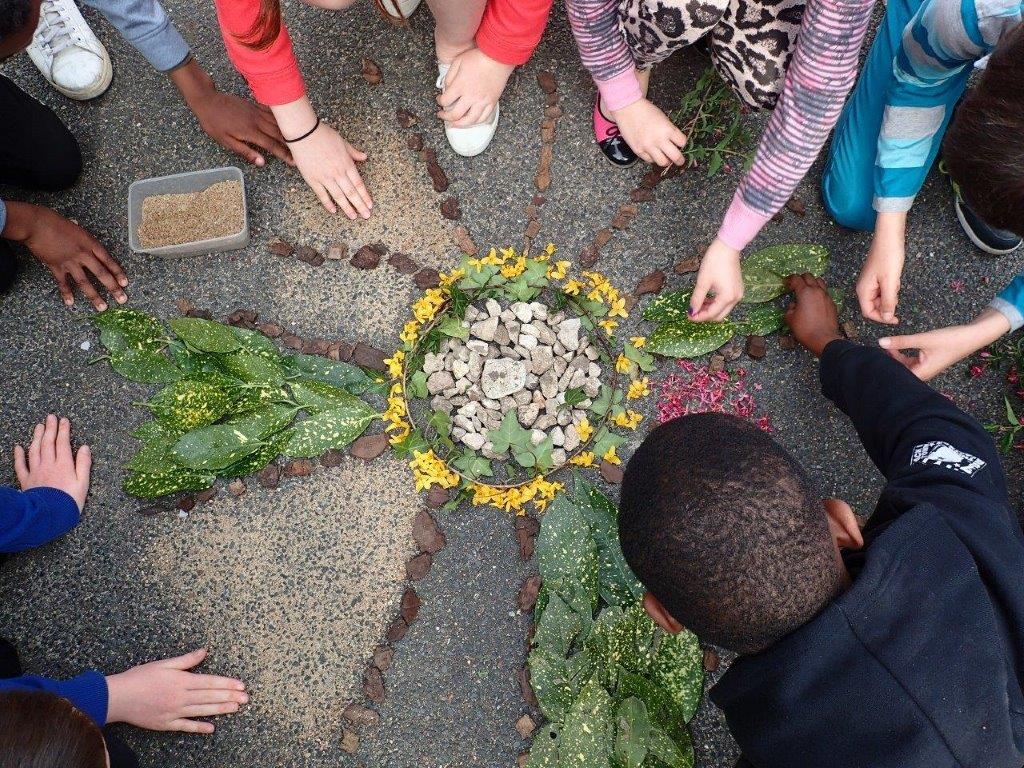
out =
[[[180,243],[176,246],[143,248],[138,242],[138,225],[142,221],[142,201],[154,195],[181,195],[203,191],[218,181],[238,181],[242,184],[242,230],[222,238]],[[237,251],[249,245],[249,207],[246,203],[246,179],[234,166],[210,168],[205,171],[175,173],[171,176],[144,178],[128,187],[128,246],[135,253],[153,256],[197,256],[206,253]]]

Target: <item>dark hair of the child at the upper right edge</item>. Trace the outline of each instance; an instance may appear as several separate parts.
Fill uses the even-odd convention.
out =
[[[1004,35],[956,109],[942,157],[985,223],[1024,237],[1024,25]]]

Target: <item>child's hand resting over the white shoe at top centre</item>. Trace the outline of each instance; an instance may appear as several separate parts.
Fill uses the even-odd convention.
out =
[[[460,53],[444,78],[444,90],[437,96],[441,106],[437,117],[456,128],[489,122],[514,69],[479,48]]]

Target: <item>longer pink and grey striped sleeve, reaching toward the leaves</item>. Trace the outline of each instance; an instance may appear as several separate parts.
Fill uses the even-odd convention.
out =
[[[809,0],[754,164],[739,182],[719,240],[743,250],[785,205],[817,158],[853,83],[874,0]]]

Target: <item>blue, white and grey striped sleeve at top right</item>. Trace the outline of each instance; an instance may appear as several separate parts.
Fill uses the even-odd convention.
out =
[[[976,0],[925,0],[893,57],[879,133],[874,210],[908,211],[971,77],[990,49],[978,33]]]

